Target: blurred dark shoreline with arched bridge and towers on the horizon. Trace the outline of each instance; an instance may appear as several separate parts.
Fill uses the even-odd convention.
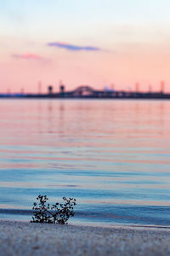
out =
[[[150,87],[149,87],[150,88]],[[151,88],[147,92],[139,91],[139,83],[135,84],[135,90],[95,90],[89,85],[78,86],[75,90],[65,90],[65,85],[59,85],[59,92],[54,91],[53,85],[48,85],[48,92],[42,93],[42,84],[38,83],[38,93],[21,93],[12,94],[10,92],[6,94],[0,94],[0,97],[8,98],[95,98],[95,99],[170,99],[169,93],[164,93],[165,83],[161,81],[161,90],[152,91]]]

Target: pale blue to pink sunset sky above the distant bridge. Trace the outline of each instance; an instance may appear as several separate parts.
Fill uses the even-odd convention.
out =
[[[170,92],[169,0],[0,0],[0,92]]]

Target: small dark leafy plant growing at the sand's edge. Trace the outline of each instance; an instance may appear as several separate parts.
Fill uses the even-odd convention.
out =
[[[34,217],[31,220],[36,223],[67,224],[68,219],[74,216],[74,206],[77,205],[76,199],[63,197],[64,203],[56,202],[50,207],[47,195],[38,195],[37,201],[32,207]]]

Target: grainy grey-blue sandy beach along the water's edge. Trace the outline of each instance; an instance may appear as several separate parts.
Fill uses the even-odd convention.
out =
[[[169,228],[90,227],[0,220],[0,255],[170,255]]]

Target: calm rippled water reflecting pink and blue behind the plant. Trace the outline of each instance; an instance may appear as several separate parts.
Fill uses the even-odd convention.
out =
[[[0,101],[0,218],[37,195],[77,199],[71,223],[170,225],[170,102]]]

